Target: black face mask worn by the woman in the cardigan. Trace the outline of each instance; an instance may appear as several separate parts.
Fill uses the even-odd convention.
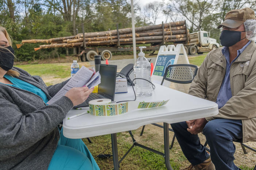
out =
[[[8,50],[11,51],[11,53]],[[14,62],[14,49],[11,46],[0,48],[0,67],[5,71],[11,70]]]

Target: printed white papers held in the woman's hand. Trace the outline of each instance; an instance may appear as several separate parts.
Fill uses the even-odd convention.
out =
[[[100,73],[97,72],[93,76],[93,71],[82,66],[75,75],[70,78],[70,80],[59,90],[57,94],[51,98],[46,104],[53,104],[55,101],[59,100],[62,96],[64,96],[67,91],[74,87],[83,87],[87,86],[89,89],[93,88],[100,84]]]

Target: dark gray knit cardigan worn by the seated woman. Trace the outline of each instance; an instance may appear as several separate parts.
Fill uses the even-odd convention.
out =
[[[68,81],[53,86],[17,70],[20,80],[40,88],[50,100]],[[27,90],[0,84],[1,169],[47,169],[59,141],[57,125],[73,107],[65,96],[52,105]]]

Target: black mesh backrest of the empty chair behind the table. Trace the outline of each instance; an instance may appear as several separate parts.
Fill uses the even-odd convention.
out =
[[[197,75],[197,70],[198,67],[192,64],[168,65],[164,72],[161,85],[163,84],[164,80],[181,84],[191,83],[195,75]]]

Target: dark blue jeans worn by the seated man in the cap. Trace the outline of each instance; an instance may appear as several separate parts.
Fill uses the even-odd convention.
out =
[[[171,124],[171,127],[184,155],[192,165],[198,165],[209,157],[198,135],[187,131],[186,122]],[[233,162],[236,151],[233,141],[243,138],[242,121],[229,119],[209,121],[203,128],[203,135],[210,147],[211,159],[216,170],[238,170]]]

